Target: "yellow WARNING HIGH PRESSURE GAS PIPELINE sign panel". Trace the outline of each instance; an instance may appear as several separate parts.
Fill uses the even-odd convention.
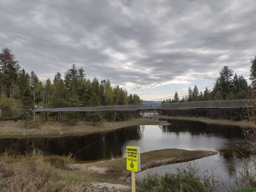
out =
[[[140,147],[126,147],[126,169],[129,171],[140,171]]]

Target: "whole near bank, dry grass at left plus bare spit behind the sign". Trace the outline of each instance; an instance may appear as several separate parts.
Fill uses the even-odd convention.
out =
[[[142,153],[141,165],[142,170],[145,170],[214,154],[216,152],[213,151],[156,150]],[[125,178],[130,176],[130,171],[126,171],[125,158],[83,165],[70,164],[74,162],[71,155],[64,156],[62,161],[55,164],[42,158],[41,151],[28,151],[25,155],[1,154],[0,191],[130,191],[130,186],[125,183]]]

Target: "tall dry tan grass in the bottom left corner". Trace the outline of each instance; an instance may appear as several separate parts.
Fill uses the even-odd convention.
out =
[[[0,155],[0,191],[6,192],[73,192],[92,191],[81,178],[66,175],[49,162],[42,152],[26,151],[24,155]],[[70,161],[70,158],[69,160]]]

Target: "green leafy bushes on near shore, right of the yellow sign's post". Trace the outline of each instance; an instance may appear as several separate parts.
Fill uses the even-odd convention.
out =
[[[197,164],[188,163],[186,167],[178,168],[175,174],[148,174],[140,182],[138,192],[215,192],[216,184],[213,176],[199,175]]]

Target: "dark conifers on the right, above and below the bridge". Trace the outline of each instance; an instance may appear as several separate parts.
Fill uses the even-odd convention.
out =
[[[251,59],[250,62],[250,75],[247,79],[242,75],[238,76],[236,73],[234,74],[234,71],[225,65],[210,89],[206,87],[204,90],[199,90],[195,85],[193,88],[189,87],[187,94],[182,96],[181,99],[178,93],[175,92],[172,99],[163,100],[162,103],[248,99],[248,93],[256,86],[256,56]],[[248,85],[248,79],[251,80],[251,85]],[[243,115],[243,110],[163,111],[162,114],[172,116],[205,116],[238,120],[240,116]]]

